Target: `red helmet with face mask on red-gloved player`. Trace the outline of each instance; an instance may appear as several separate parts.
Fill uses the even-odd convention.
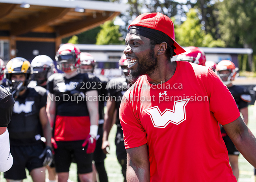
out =
[[[80,53],[80,49],[74,44],[62,45],[55,56],[57,68],[65,73],[74,71],[80,64]]]

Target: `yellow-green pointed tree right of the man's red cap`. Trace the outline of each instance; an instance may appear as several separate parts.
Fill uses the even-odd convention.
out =
[[[182,46],[196,47],[224,47],[222,40],[214,40],[210,33],[202,30],[196,9],[191,8],[187,13],[187,20],[174,28],[175,40]]]

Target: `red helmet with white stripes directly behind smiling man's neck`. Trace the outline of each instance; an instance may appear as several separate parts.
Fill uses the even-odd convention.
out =
[[[184,50],[186,51],[185,53],[178,55],[178,61],[189,61],[195,64],[205,66],[206,58],[204,51],[202,51],[202,49],[191,46],[186,47]]]

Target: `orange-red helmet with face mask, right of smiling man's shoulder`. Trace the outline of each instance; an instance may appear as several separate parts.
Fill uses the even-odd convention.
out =
[[[235,79],[238,68],[230,60],[222,60],[217,64],[215,71],[223,83],[228,85]],[[223,73],[224,71],[227,73]]]

